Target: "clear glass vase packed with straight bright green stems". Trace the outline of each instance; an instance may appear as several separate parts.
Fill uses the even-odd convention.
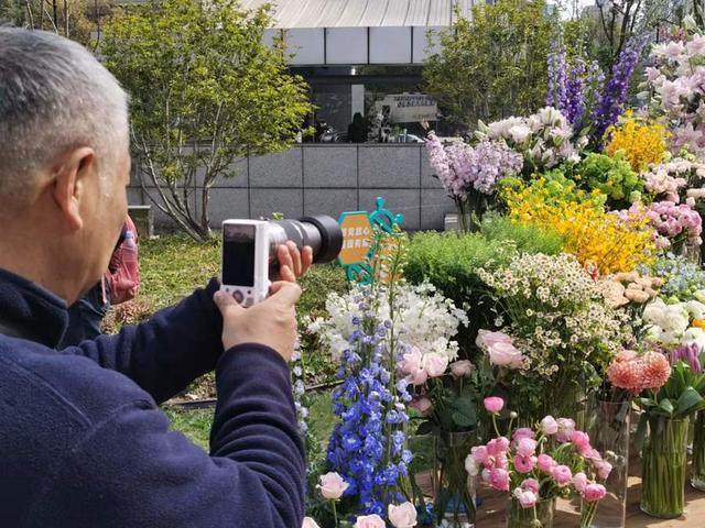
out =
[[[641,452],[641,510],[652,517],[683,515],[688,418],[649,417]]]

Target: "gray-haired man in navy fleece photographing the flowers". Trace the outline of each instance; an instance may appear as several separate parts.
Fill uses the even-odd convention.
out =
[[[288,282],[252,308],[214,280],[118,336],[55,350],[124,221],[128,139],[127,97],[86,50],[0,29],[0,526],[299,528],[285,360],[310,249],[279,249]],[[214,369],[206,454],[156,405]]]

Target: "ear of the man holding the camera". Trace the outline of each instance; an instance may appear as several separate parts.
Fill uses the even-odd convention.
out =
[[[95,177],[96,153],[89,146],[74,148],[62,156],[54,170],[52,196],[72,230],[80,229],[84,219],[80,202],[85,199],[86,184]]]

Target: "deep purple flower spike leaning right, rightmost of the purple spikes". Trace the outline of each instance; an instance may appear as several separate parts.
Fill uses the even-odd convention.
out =
[[[605,131],[615,124],[623,112],[629,95],[629,81],[646,44],[647,40],[643,37],[630,38],[612,66],[612,75],[593,112],[592,139],[595,143],[601,142]]]

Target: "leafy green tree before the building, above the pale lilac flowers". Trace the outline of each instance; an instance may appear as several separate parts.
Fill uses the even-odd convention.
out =
[[[451,120],[474,125],[543,106],[555,20],[544,11],[544,0],[482,2],[471,20],[456,10],[438,35],[443,51],[424,67],[426,89]]]

